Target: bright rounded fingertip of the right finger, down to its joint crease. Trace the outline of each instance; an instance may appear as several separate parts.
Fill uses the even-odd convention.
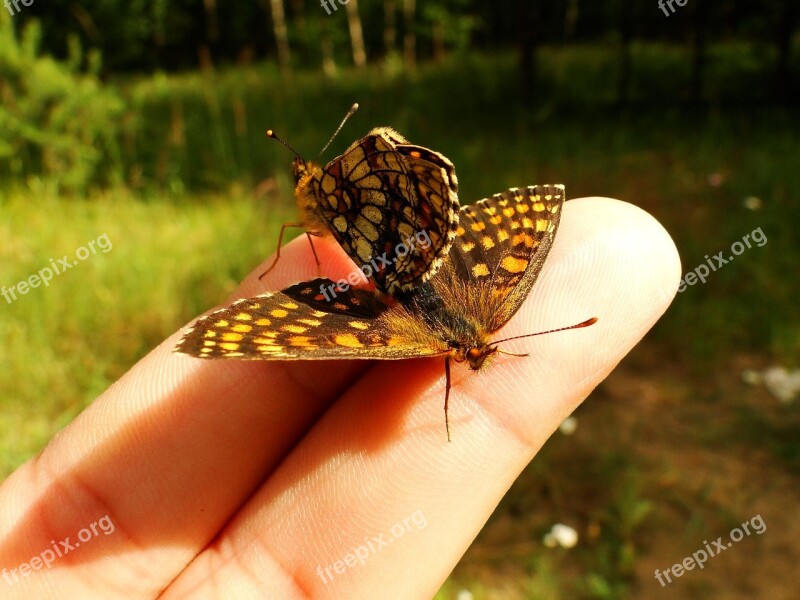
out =
[[[539,280],[495,337],[594,323],[509,342],[530,358],[504,357],[491,374],[464,378],[463,389],[485,398],[491,377],[503,392],[488,395],[500,401],[481,404],[538,447],[664,314],[680,272],[672,238],[647,212],[611,198],[570,200]]]

